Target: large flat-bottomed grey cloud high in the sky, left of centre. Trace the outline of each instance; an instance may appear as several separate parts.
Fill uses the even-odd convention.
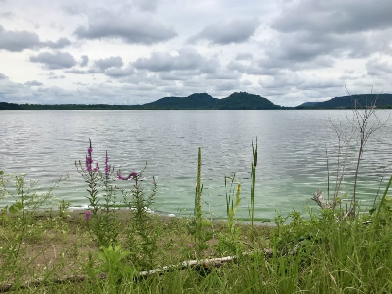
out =
[[[150,14],[101,11],[88,18],[87,26],[79,26],[75,35],[83,39],[121,38],[129,44],[151,45],[170,40],[176,32],[153,19]]]

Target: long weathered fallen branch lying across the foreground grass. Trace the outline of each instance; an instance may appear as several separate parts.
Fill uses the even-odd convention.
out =
[[[269,258],[272,257],[272,250],[270,248],[264,248],[264,258]],[[259,251],[259,252],[263,252]],[[245,251],[242,252],[243,256],[249,256],[254,254],[255,250],[251,251]],[[205,269],[208,270],[211,267],[219,268],[223,264],[227,262],[237,262],[239,256],[238,255],[233,255],[233,256],[225,256],[225,257],[217,257],[217,258],[206,258],[206,259],[194,259],[194,260],[187,260],[183,261],[177,265],[171,265],[171,266],[165,266],[162,268],[154,269],[154,270],[142,270],[139,271],[139,276],[136,276],[134,279],[144,279],[152,275],[161,275],[165,272],[169,272],[172,270],[185,270],[188,268],[193,268],[193,269]],[[62,278],[55,278],[55,279],[45,279],[45,278],[39,278],[35,279],[32,281],[26,281],[21,283],[20,285],[15,285],[13,283],[5,283],[0,285],[0,293],[8,292],[11,290],[15,289],[24,289],[24,288],[29,288],[29,287],[37,287],[40,285],[49,285],[49,284],[65,284],[65,283],[79,283],[84,280],[86,280],[89,276],[87,275],[72,275],[72,276],[65,276]],[[97,275],[98,279],[106,279],[108,277],[107,273],[100,273]]]

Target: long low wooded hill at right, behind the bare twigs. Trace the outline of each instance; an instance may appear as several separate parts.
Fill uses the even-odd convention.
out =
[[[356,94],[356,95],[347,95],[341,97],[334,97],[328,101],[324,102],[306,102],[297,107],[303,106],[313,106],[313,107],[322,107],[322,108],[331,108],[331,107],[354,107],[354,101],[357,100],[357,106],[370,106],[374,105],[376,102],[376,106],[391,106],[392,105],[392,94]],[[308,103],[314,103],[313,105],[309,105]],[[305,105],[308,104],[308,105]]]

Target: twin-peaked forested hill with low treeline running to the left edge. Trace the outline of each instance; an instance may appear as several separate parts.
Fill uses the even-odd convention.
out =
[[[217,99],[207,93],[194,93],[187,97],[164,97],[143,105],[83,105],[83,104],[15,104],[0,102],[0,110],[169,110],[169,109],[280,109],[279,105],[259,95],[235,92]]]

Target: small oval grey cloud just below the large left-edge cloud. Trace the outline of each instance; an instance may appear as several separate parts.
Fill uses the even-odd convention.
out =
[[[30,56],[30,61],[41,63],[45,69],[49,70],[68,69],[76,65],[75,58],[68,52],[42,52],[36,56]]]

